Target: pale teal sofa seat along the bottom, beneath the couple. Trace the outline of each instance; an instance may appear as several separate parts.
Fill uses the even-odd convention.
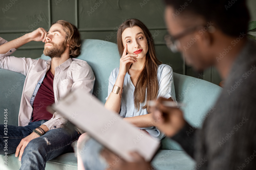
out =
[[[3,162],[3,156],[0,156],[0,161]],[[152,165],[157,170],[187,170],[192,169],[195,162],[185,151],[159,150],[152,160]],[[10,154],[8,155],[8,166],[1,166],[1,170],[18,170],[20,166],[21,162],[18,157],[15,157],[15,154]],[[74,153],[66,153],[47,161],[45,170],[53,169],[77,170],[77,158]]]

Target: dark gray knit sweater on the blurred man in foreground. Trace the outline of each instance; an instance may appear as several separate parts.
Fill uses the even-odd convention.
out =
[[[214,108],[202,129],[188,136],[186,124],[172,139],[196,160],[193,169],[256,169],[255,41],[238,54]]]

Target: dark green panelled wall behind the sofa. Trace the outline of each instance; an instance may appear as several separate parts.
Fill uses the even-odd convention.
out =
[[[249,0],[252,20],[256,20],[256,1]],[[18,38],[38,27],[49,30],[52,22],[63,19],[79,28],[82,39],[99,39],[116,43],[118,26],[129,18],[142,20],[154,36],[156,53],[174,72],[214,84],[221,78],[215,68],[199,76],[185,65],[180,54],[170,52],[164,43],[167,33],[162,0],[0,0],[0,37],[7,41]],[[20,47],[16,57],[38,58],[44,49],[42,42],[30,42]]]

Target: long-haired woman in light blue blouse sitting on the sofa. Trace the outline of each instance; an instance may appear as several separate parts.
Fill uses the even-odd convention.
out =
[[[153,37],[146,25],[138,19],[128,19],[120,25],[117,44],[121,56],[120,67],[110,74],[105,108],[120,114],[125,121],[134,124],[154,139],[161,140],[165,135],[154,126],[149,101],[164,97],[177,103],[173,70],[157,59]],[[78,142],[84,137],[86,134],[82,134]],[[100,145],[89,147],[89,150],[93,148],[97,152],[98,146]],[[78,148],[81,149],[81,146]],[[95,155],[99,154],[81,155],[87,170],[104,166]],[[95,160],[87,158],[91,156]],[[84,169],[83,163],[78,156],[78,170]]]

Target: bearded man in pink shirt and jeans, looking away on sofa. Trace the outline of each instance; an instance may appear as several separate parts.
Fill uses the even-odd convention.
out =
[[[10,56],[30,41],[42,41],[42,59]],[[61,154],[73,152],[71,143],[80,132],[64,128],[66,119],[46,110],[52,103],[82,88],[92,93],[95,77],[86,61],[75,59],[80,54],[81,39],[78,29],[71,23],[59,20],[49,32],[43,28],[7,42],[0,37],[0,68],[26,76],[20,102],[19,126],[8,125],[8,136],[0,132],[0,154],[4,153],[4,137],[8,137],[8,154],[19,155],[20,169],[45,169],[46,162]],[[4,125],[0,125],[4,129]],[[6,151],[5,151],[6,152]]]

